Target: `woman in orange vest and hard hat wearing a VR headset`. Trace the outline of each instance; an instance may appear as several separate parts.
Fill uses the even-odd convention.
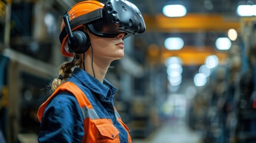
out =
[[[131,142],[113,105],[117,89],[104,77],[110,63],[124,57],[123,39],[144,30],[140,11],[128,1],[84,1],[67,11],[61,53],[73,60],[61,65],[53,94],[38,110],[39,142]]]

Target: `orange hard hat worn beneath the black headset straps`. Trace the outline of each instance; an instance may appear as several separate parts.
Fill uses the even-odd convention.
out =
[[[75,4],[72,8],[70,8],[70,10],[67,11],[67,14],[69,14],[69,20],[72,21],[73,18],[90,13],[91,11],[98,10],[103,7],[104,4],[98,1],[82,1],[78,4]],[[73,28],[72,31],[81,29],[83,26],[84,23],[81,23],[79,26]],[[62,21],[60,30],[62,31],[64,27],[65,24],[64,21]],[[63,41],[61,42],[61,54],[63,54],[66,57],[73,57],[73,53],[69,52],[68,49],[69,48],[67,47],[67,35],[65,35]]]

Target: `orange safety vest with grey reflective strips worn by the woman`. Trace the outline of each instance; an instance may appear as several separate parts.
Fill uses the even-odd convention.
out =
[[[69,91],[71,92],[78,101],[79,106],[84,117],[84,137],[82,142],[120,142],[119,140],[119,131],[113,125],[111,119],[100,119],[96,111],[92,107],[90,101],[85,96],[84,92],[81,91],[78,86],[72,82],[65,82],[58,86],[54,93],[45,101],[38,110],[38,119],[41,122],[42,116],[44,114],[45,108],[51,99],[54,98],[60,91]],[[129,135],[128,127],[122,122],[121,117],[116,111],[115,114],[118,122],[127,130],[128,133],[128,142],[131,142],[131,136]]]

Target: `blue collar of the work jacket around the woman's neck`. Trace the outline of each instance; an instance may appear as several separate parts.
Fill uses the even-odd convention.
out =
[[[87,88],[89,88],[91,91],[103,95],[105,98],[113,97],[117,91],[115,86],[113,86],[106,79],[104,79],[103,83],[101,83],[99,80],[95,79],[86,71],[79,69],[78,67],[73,70],[72,76],[76,77],[76,79],[82,82],[84,86],[87,86]]]

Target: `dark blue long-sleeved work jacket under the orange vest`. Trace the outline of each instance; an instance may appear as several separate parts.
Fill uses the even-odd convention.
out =
[[[79,68],[74,69],[67,81],[75,83],[84,92],[100,118],[112,120],[119,130],[120,142],[128,142],[127,130],[117,122],[115,116],[113,96],[117,89],[106,79],[101,83]],[[78,101],[70,92],[59,92],[45,108],[38,141],[82,142],[83,135],[84,121]]]

